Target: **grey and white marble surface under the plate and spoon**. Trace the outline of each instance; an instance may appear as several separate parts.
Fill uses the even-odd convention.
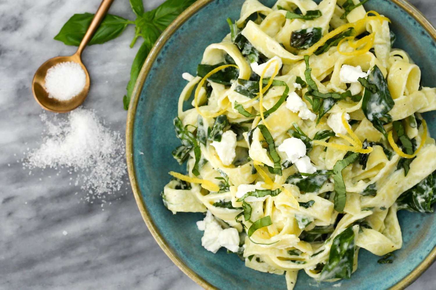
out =
[[[144,2],[151,9],[162,0]],[[434,0],[410,2],[436,24]],[[98,5],[0,0],[0,289],[201,289],[153,240],[128,184],[101,207],[81,201],[85,194],[68,185],[68,174],[29,175],[22,168],[23,152],[41,144],[44,130],[31,93],[34,71],[50,57],[74,53],[53,37],[73,13],[94,12]],[[127,0],[115,1],[110,12],[134,18]],[[132,37],[129,27],[83,54],[92,78],[84,107],[122,134],[122,97],[140,44],[129,49]],[[409,289],[435,289],[435,274],[433,265]]]

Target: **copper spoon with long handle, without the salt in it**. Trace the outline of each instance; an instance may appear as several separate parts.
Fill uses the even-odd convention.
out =
[[[97,27],[99,27],[99,24],[102,22],[103,18],[106,16],[106,13],[109,10],[109,7],[111,6],[113,0],[103,0],[100,4],[99,9],[95,13],[94,18],[92,18],[91,24],[88,27],[88,30],[85,33],[85,36],[82,39],[82,42],[80,43],[76,53],[74,53],[72,56],[69,57],[53,57],[49,60],[47,60],[45,63],[41,65],[41,67],[38,68],[36,71],[33,81],[32,81],[32,92],[33,96],[35,97],[35,100],[38,104],[41,105],[45,110],[49,110],[55,113],[67,113],[71,110],[74,110],[78,106],[80,106],[83,101],[85,100],[86,96],[89,92],[89,73],[88,70],[86,70],[85,65],[82,63],[81,55],[83,49],[86,47],[86,44],[88,44],[89,40],[91,40],[92,36],[94,35],[95,31],[97,30]],[[75,63],[80,64],[83,71],[86,75],[86,83],[85,87],[83,88],[82,92],[80,92],[78,95],[73,97],[70,100],[66,101],[60,101],[54,98],[48,97],[47,91],[44,89],[45,85],[45,75],[47,73],[47,70],[50,67],[53,67],[54,65],[58,63],[63,63],[66,61],[72,61]]]

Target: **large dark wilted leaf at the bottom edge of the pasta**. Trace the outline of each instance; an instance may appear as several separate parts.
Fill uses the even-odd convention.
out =
[[[353,272],[354,248],[354,231],[352,227],[348,227],[334,237],[320,280],[350,278]]]

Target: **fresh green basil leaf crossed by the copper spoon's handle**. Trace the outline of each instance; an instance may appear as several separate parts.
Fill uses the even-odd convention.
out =
[[[62,41],[66,45],[78,46],[88,30],[92,18],[94,18],[92,13],[74,14],[54,37],[54,40]],[[133,24],[133,22],[123,17],[107,14],[88,45],[105,43],[119,37],[128,24]]]

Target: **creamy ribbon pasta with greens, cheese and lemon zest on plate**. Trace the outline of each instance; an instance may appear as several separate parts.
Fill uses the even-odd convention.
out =
[[[205,213],[205,250],[285,274],[288,289],[300,270],[350,278],[360,248],[392,263],[397,211],[433,212],[436,146],[420,113],[436,89],[367,1],[246,0],[182,76],[172,154],[187,173],[170,172],[164,204]]]

